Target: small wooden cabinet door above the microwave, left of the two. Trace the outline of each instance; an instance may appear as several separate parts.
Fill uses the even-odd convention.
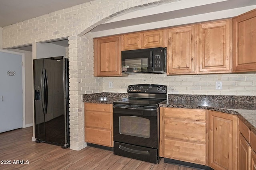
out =
[[[134,33],[124,35],[124,50],[140,49],[141,48],[141,34]]]

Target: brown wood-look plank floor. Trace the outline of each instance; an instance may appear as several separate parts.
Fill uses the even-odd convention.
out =
[[[152,164],[93,147],[76,151],[31,141],[32,127],[0,133],[0,170],[196,170]]]

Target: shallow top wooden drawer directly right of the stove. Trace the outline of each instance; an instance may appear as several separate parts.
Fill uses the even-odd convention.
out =
[[[206,110],[164,107],[164,117],[206,120]]]

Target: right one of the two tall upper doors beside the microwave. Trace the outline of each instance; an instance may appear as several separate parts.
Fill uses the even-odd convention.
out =
[[[231,72],[231,20],[199,25],[199,73]]]

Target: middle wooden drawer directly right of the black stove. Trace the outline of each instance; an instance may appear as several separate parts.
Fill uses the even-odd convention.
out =
[[[164,137],[206,142],[206,122],[190,119],[164,119]]]

